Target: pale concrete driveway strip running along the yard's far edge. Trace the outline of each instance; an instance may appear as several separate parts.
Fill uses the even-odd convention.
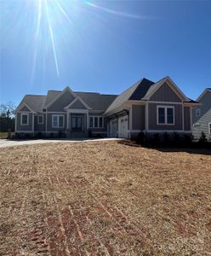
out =
[[[43,144],[43,143],[88,143],[101,141],[121,141],[121,138],[100,138],[100,139],[37,139],[37,140],[7,140],[0,139],[0,148],[14,147],[21,145]]]

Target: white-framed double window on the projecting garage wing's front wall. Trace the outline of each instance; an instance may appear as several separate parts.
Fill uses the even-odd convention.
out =
[[[174,125],[174,107],[157,106],[157,125]]]

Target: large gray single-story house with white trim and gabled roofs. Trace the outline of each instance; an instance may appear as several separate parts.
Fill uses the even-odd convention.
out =
[[[141,79],[119,96],[66,87],[48,90],[47,96],[26,95],[15,112],[15,132],[125,138],[140,131],[191,134],[191,109],[197,105],[169,77],[157,83]]]

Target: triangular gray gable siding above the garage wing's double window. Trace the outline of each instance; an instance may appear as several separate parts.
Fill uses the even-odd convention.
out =
[[[150,97],[150,101],[157,102],[181,102],[180,97],[167,84],[163,83],[158,90]]]

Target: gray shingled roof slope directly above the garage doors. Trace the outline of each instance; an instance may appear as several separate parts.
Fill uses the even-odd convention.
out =
[[[115,101],[111,103],[111,106],[106,109],[106,113],[121,107],[123,103],[127,102],[128,100],[140,100],[151,88],[152,84],[154,84],[154,82],[148,79],[141,79],[136,84],[128,88],[128,90],[125,90],[120,96],[117,96]]]

